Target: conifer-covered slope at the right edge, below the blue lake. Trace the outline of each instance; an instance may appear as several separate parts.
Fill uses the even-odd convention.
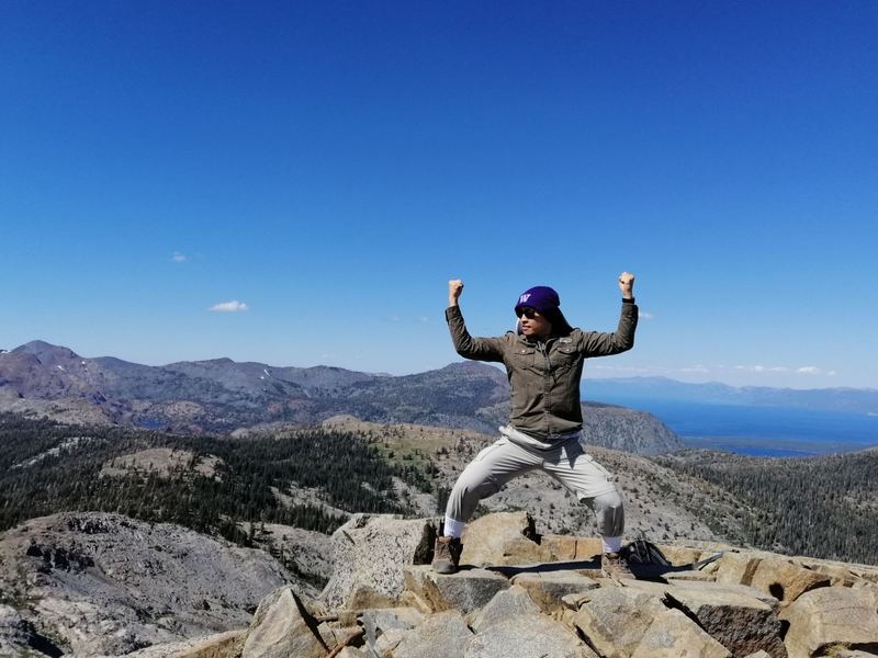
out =
[[[685,451],[655,461],[745,501],[751,513],[733,537],[741,543],[878,564],[876,451],[783,460]]]

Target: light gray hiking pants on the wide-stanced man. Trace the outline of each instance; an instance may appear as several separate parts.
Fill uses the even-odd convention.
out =
[[[480,500],[499,491],[514,477],[539,468],[592,508],[601,535],[622,535],[622,499],[609,472],[579,444],[579,432],[561,443],[545,445],[514,428],[500,431],[504,435],[480,452],[460,474],[449,496],[446,517],[466,523]]]

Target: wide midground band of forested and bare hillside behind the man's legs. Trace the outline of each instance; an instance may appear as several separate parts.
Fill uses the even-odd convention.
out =
[[[429,515],[488,441],[461,430],[356,419],[233,439],[0,415],[0,530],[93,510],[254,545],[262,523],[330,532],[351,512]],[[712,535],[878,564],[876,452],[768,460],[685,451],[651,461],[593,451],[617,475],[632,533]],[[549,532],[588,527],[590,517],[559,489],[524,477],[484,509],[527,509]]]

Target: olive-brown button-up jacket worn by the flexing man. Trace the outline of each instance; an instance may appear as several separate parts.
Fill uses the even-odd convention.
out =
[[[537,342],[511,331],[496,338],[470,336],[459,306],[446,310],[454,350],[475,361],[497,361],[509,377],[509,423],[551,442],[583,427],[579,379],[592,356],[619,354],[634,347],[638,307],[623,303],[615,333],[574,329]]]

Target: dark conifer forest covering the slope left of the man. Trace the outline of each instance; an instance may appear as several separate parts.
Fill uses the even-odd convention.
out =
[[[164,465],[135,458],[161,454],[185,458]],[[247,544],[236,522],[330,532],[346,520],[342,510],[404,513],[394,475],[429,487],[423,470],[389,464],[368,442],[331,429],[229,440],[0,415],[0,530],[58,511],[95,510]],[[303,489],[320,503],[295,498]]]

